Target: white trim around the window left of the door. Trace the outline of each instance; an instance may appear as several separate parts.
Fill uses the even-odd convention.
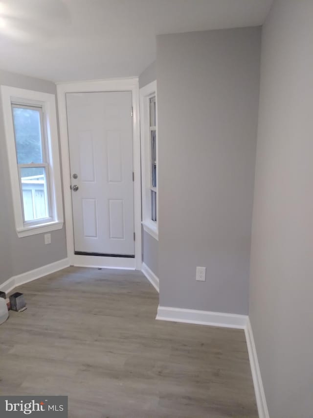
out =
[[[49,93],[1,86],[1,97],[16,232],[21,238],[61,229],[64,221],[55,96]],[[11,108],[12,102],[34,105],[40,104],[43,106],[47,135],[46,152],[49,161],[49,187],[51,193],[51,211],[53,214],[52,221],[43,222],[43,220],[39,220],[38,223],[35,224],[33,222],[32,224],[27,224],[23,221],[22,197],[20,191],[14,124]]]

